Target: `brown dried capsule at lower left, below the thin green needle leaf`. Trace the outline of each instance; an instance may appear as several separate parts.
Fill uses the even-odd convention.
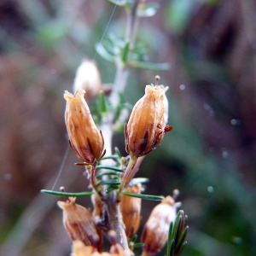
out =
[[[72,241],[83,241],[84,245],[102,248],[102,234],[97,228],[91,213],[75,203],[75,197],[69,197],[67,202],[58,201],[63,210],[63,224]]]

